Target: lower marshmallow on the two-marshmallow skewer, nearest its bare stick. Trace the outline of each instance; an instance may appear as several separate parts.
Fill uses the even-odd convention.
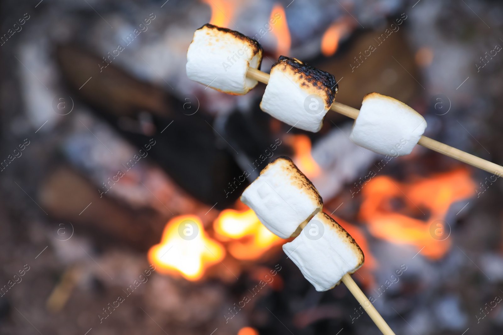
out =
[[[283,245],[316,291],[326,291],[354,273],[364,262],[363,252],[344,228],[324,212],[307,222],[299,236]]]

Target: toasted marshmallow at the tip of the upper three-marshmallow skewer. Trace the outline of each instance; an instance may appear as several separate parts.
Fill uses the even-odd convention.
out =
[[[227,28],[209,23],[194,33],[187,51],[187,76],[216,90],[241,95],[257,85],[246,78],[248,67],[260,69],[259,42]]]

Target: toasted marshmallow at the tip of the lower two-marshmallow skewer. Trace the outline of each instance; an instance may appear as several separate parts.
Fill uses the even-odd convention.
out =
[[[278,157],[269,163],[246,187],[241,201],[282,239],[292,236],[323,207],[316,188],[288,157]]]

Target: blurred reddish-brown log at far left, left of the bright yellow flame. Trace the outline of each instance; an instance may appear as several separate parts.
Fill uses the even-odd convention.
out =
[[[112,198],[100,198],[95,186],[66,166],[53,169],[38,198],[51,216],[79,225],[101,245],[123,242],[148,250],[158,241],[166,222],[166,217],[154,210],[133,210]],[[87,204],[89,208],[82,210]]]

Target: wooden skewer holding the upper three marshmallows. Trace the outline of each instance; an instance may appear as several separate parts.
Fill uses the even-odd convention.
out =
[[[260,82],[263,82],[267,84],[269,82],[269,74],[262,72],[260,70],[254,69],[254,68],[248,68],[248,71],[246,72],[246,76],[248,78],[256,79]],[[333,111],[337,111],[337,113],[340,113],[342,115],[345,115],[347,117],[350,117],[351,119],[356,119],[358,117],[358,114],[360,113],[360,110],[350,107],[348,105],[345,105],[343,103],[334,101],[332,105],[330,106],[330,109]],[[474,156],[472,154],[469,154],[467,152],[464,152],[462,150],[456,149],[454,147],[448,146],[447,144],[443,144],[441,142],[435,141],[429,137],[426,136],[421,136],[419,139],[419,142],[417,144],[422,145],[425,148],[431,149],[433,151],[436,151],[438,153],[441,153],[443,155],[446,155],[448,157],[457,159],[460,162],[472,165],[474,167],[477,167],[481,170],[490,172],[496,176],[501,176],[503,175],[503,166],[497,165],[495,163],[489,162],[485,159],[482,159],[480,157]]]

